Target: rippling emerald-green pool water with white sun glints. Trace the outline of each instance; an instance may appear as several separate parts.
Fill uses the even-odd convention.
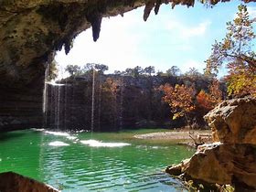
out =
[[[62,191],[187,191],[163,170],[194,151],[163,141],[135,140],[132,135],[2,133],[0,172],[15,171]]]

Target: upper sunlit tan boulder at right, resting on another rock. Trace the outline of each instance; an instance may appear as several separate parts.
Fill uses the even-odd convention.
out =
[[[223,101],[205,116],[214,142],[256,144],[256,99]]]

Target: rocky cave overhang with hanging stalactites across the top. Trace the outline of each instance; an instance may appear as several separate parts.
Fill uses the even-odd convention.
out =
[[[227,0],[197,2],[215,5]],[[245,0],[251,2],[255,0]],[[81,31],[100,36],[101,18],[144,7],[144,20],[162,4],[193,6],[194,0],[2,0],[0,1],[0,84],[19,86],[43,81],[45,69],[62,47],[66,53]],[[138,18],[140,19],[140,18]]]

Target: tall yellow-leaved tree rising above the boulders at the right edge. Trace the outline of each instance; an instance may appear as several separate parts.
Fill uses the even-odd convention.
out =
[[[237,17],[227,23],[226,37],[212,46],[205,71],[207,74],[218,73],[222,65],[227,65],[229,95],[256,95],[256,55],[251,49],[256,38],[253,31],[255,19],[249,18],[246,5],[238,8]]]

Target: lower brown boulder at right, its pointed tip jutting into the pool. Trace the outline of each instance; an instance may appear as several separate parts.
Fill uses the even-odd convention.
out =
[[[207,186],[232,185],[256,190],[256,145],[203,144],[189,161],[166,168],[174,176],[183,176]]]

